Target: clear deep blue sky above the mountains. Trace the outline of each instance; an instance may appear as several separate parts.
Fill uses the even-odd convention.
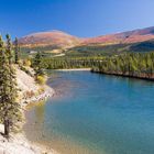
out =
[[[0,0],[0,32],[61,30],[80,37],[154,25],[154,0]]]

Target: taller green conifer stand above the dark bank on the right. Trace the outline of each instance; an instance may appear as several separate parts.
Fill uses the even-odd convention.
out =
[[[154,53],[127,53],[106,57],[92,72],[154,79]]]

